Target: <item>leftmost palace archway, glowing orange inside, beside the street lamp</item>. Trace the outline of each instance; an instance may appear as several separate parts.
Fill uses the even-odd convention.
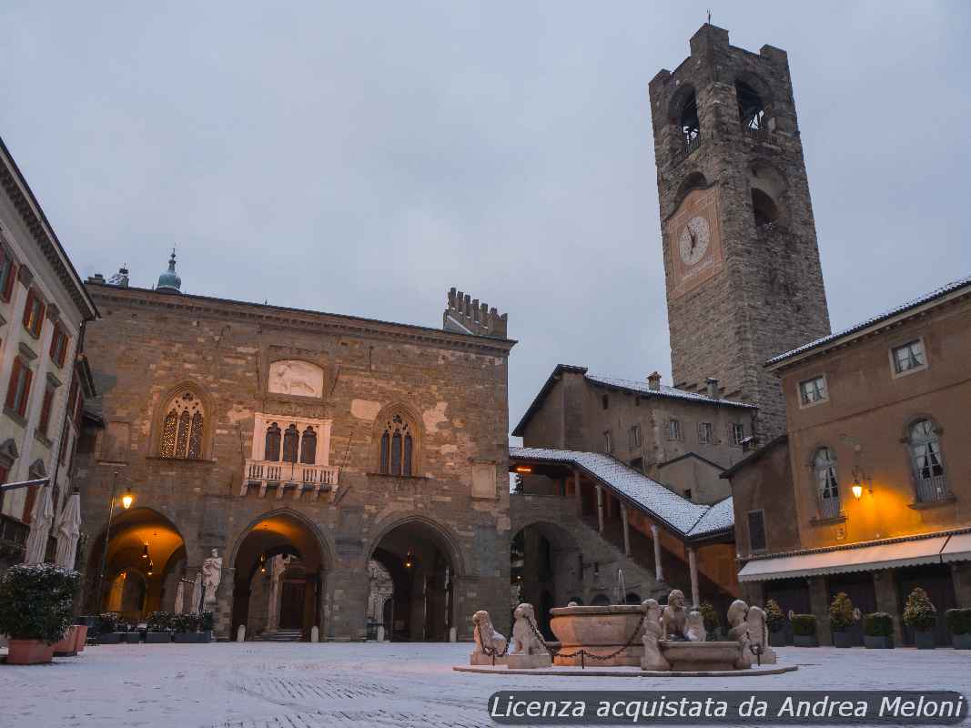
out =
[[[116,612],[137,623],[151,612],[172,610],[185,569],[185,542],[172,521],[148,508],[117,515],[108,542],[105,576],[99,579],[104,548],[102,532],[87,559],[86,612]]]

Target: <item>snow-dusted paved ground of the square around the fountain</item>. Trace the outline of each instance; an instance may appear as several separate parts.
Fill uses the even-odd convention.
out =
[[[471,645],[218,644],[87,647],[47,666],[0,665],[0,727],[494,726],[500,689],[954,689],[971,653],[780,649],[799,670],[757,678],[537,678],[455,673]]]

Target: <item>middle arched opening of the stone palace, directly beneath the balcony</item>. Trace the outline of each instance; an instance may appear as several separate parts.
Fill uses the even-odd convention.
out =
[[[309,641],[320,627],[325,569],[323,550],[311,525],[292,513],[274,513],[255,523],[233,561],[232,634],[246,625],[247,640]]]

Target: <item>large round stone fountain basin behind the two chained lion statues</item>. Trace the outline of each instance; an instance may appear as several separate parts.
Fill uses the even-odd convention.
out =
[[[640,605],[611,605],[608,607],[558,607],[550,610],[550,628],[560,642],[559,650],[564,653],[553,656],[555,665],[580,665],[580,655],[568,656],[579,649],[593,655],[608,655],[616,652],[628,641],[619,654],[607,660],[592,660],[586,657],[587,665],[640,666],[644,655],[644,625],[641,622],[644,610]],[[638,626],[640,625],[640,626]],[[637,630],[635,634],[635,629]]]

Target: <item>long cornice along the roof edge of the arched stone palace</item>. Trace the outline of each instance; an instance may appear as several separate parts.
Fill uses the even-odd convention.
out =
[[[516,341],[512,339],[493,339],[346,314],[287,309],[186,293],[159,293],[148,288],[122,288],[93,281],[87,281],[85,286],[103,305],[116,304],[128,308],[168,310],[181,314],[228,318],[278,329],[288,328],[334,336],[366,336],[421,346],[471,350],[502,357],[508,356],[510,349],[516,345]]]

